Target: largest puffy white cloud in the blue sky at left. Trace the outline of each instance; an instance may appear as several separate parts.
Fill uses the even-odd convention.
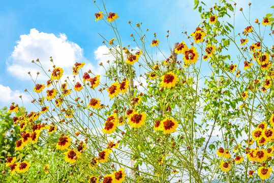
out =
[[[56,66],[68,70],[75,62],[83,59],[83,50],[75,43],[68,41],[65,34],[47,34],[31,29],[28,35],[21,35],[14,51],[7,59],[7,70],[20,79],[30,79],[27,72],[36,75],[37,71],[42,74],[40,68],[32,60],[40,59],[47,71],[52,69],[53,64],[49,61],[50,56]]]

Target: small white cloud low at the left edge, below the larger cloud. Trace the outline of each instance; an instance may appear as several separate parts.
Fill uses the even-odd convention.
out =
[[[16,104],[19,104],[20,106],[22,101],[19,96],[22,96],[22,100],[24,103],[31,101],[30,97],[22,91],[13,91],[9,86],[3,86],[2,84],[0,84],[0,103],[2,105],[5,104],[9,106],[10,103],[14,102]]]

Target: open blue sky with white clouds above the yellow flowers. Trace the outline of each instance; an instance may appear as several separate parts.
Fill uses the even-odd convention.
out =
[[[208,8],[215,1],[207,2]],[[252,19],[272,13],[270,0],[236,1],[245,10],[251,2]],[[97,1],[102,6],[101,1]],[[133,45],[130,34],[133,29],[128,24],[142,22],[143,29],[148,28],[148,37],[157,36],[163,52],[169,54],[166,45],[166,31],[169,29],[170,42],[181,42],[186,39],[181,32],[193,32],[200,22],[200,15],[193,10],[194,1],[150,0],[150,1],[117,1],[108,0],[106,8],[115,12],[119,18],[116,23],[123,44]],[[33,82],[27,71],[35,73],[31,60],[40,58],[48,62],[49,56],[56,59],[56,65],[72,68],[74,62],[85,62],[90,68],[97,70],[99,62],[107,60],[103,55],[103,39],[98,33],[110,40],[114,37],[109,27],[102,21],[95,21],[98,12],[93,1],[2,1],[0,3],[0,108],[10,106],[11,102],[19,105],[19,95],[27,88],[32,90]],[[255,14],[256,13],[256,14]],[[242,24],[240,13],[236,14],[236,25],[239,32],[247,25]],[[32,30],[32,31],[31,31]],[[23,36],[22,36],[23,35]],[[101,46],[101,47],[100,47]],[[29,69],[29,70],[28,70]],[[37,68],[38,70],[38,68]],[[25,98],[25,107],[31,107],[29,97]]]

